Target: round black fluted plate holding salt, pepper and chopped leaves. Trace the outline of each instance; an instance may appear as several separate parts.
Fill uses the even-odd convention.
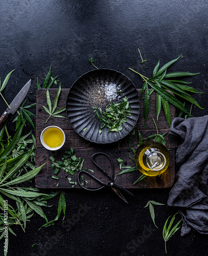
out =
[[[121,91],[121,94],[113,93],[115,89]],[[131,116],[127,116],[122,130],[107,134],[109,129],[104,127],[99,134],[102,123],[93,107],[105,110],[110,100],[119,103],[124,96],[128,98]],[[93,70],[73,83],[66,100],[66,113],[74,131],[86,140],[101,144],[112,143],[134,129],[140,114],[140,98],[134,84],[120,72],[110,69]]]

